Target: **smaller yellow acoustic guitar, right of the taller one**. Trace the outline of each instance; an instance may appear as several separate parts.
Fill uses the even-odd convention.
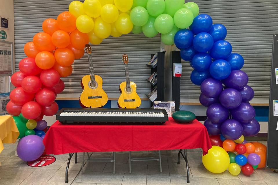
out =
[[[141,99],[136,93],[136,84],[129,81],[128,56],[122,56],[122,62],[125,64],[125,82],[120,84],[121,95],[118,99],[120,108],[138,108],[141,105]]]

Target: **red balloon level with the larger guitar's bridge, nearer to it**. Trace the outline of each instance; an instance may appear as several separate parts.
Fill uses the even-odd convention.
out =
[[[47,88],[43,88],[36,93],[35,100],[41,106],[49,106],[55,101],[55,93]]]

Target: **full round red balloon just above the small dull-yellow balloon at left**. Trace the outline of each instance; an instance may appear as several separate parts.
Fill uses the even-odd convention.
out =
[[[26,119],[36,119],[41,115],[41,106],[36,101],[29,101],[22,106],[21,113]]]

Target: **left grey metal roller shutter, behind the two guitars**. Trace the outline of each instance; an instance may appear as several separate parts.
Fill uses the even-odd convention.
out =
[[[23,47],[32,41],[34,34],[42,32],[41,24],[46,18],[57,18],[58,14],[68,11],[72,0],[14,0],[14,41],[15,69],[25,58]],[[103,89],[109,98],[120,95],[119,85],[125,81],[125,67],[122,54],[129,56],[130,80],[137,84],[137,93],[145,97],[149,93],[150,84],[145,80],[150,76],[150,69],[145,65],[151,53],[160,51],[160,35],[147,38],[143,34],[127,34],[119,38],[109,37],[100,45],[92,46],[95,74],[103,78]],[[58,97],[79,97],[82,92],[81,78],[89,74],[87,55],[75,60],[71,76],[62,78],[65,90]]]

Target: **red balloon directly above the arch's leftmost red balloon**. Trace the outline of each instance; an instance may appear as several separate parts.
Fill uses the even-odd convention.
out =
[[[33,101],[35,94],[25,92],[22,87],[15,88],[10,93],[10,100],[17,105],[24,105],[28,101]]]

